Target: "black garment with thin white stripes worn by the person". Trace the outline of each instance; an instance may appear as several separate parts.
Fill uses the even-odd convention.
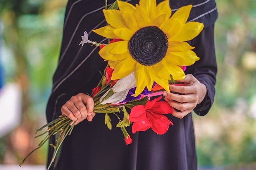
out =
[[[131,4],[138,0],[125,0]],[[161,2],[162,0],[157,0]],[[93,3],[92,3],[93,2]],[[114,0],[108,0],[113,3]],[[58,68],[53,78],[52,94],[46,109],[48,121],[61,115],[61,107],[67,100],[80,92],[90,94],[106,66],[98,55],[99,48],[78,44],[84,31],[89,33],[91,41],[105,41],[103,37],[91,32],[106,25],[102,9],[104,0],[69,0],[66,8],[63,41]],[[217,18],[214,0],[170,0],[173,13],[188,4],[193,8],[188,21],[204,23],[204,30],[189,43],[196,47],[200,57],[194,65],[189,66],[186,74],[193,74],[207,88],[203,102],[194,111],[205,115],[214,100],[214,84],[217,71],[214,52],[214,22]],[[127,128],[133,143],[125,145],[124,137],[114,115],[112,130],[104,125],[104,114],[96,114],[92,122],[83,121],[74,127],[72,134],[66,137],[61,156],[52,166],[56,170],[196,170],[196,151],[194,129],[191,113],[183,119],[172,115],[173,121],[164,135],[156,135],[151,129],[132,134]],[[54,142],[54,138],[50,139]],[[49,148],[48,164],[52,158]]]

